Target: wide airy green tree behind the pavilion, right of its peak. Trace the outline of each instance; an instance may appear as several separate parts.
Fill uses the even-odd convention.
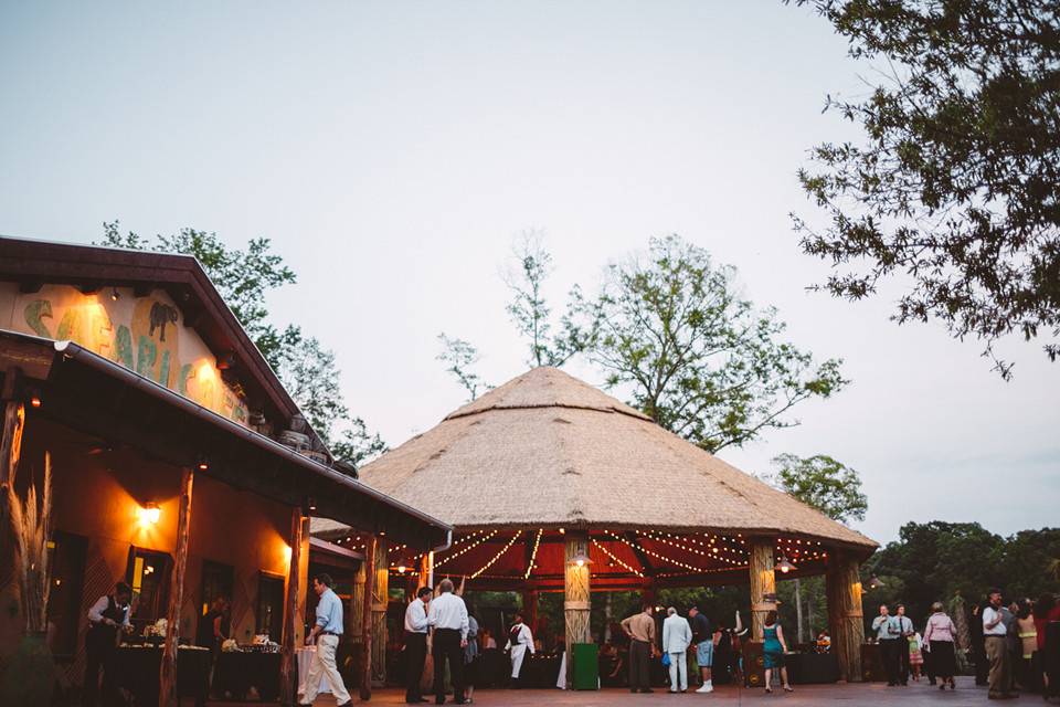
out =
[[[632,405],[709,452],[796,425],[792,408],[847,383],[839,360],[815,365],[782,339],[774,309],[740,297],[734,268],[677,235],[612,265],[587,308],[598,334],[586,354],[607,384],[627,386]]]

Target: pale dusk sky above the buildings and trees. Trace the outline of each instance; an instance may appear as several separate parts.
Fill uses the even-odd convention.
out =
[[[0,0],[0,233],[87,243],[119,219],[272,239],[298,274],[275,321],[335,349],[391,445],[465,400],[439,333],[494,384],[527,368],[501,276],[520,233],[544,233],[555,308],[678,233],[852,381],[720,456],[835,456],[881,542],[911,520],[1054,526],[1060,368],[1040,346],[1004,342],[1004,382],[976,341],[890,321],[901,283],[858,304],[807,291],[828,270],[792,230],[792,212],[822,222],[795,173],[810,146],[859,139],[822,108],[873,78],[780,0]]]

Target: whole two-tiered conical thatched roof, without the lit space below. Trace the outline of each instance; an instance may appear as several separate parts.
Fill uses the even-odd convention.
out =
[[[876,544],[554,368],[536,368],[365,465],[457,530],[601,527]]]

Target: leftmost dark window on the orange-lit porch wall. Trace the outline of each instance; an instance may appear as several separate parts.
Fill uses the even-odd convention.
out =
[[[52,589],[47,598],[47,642],[59,659],[73,659],[77,653],[77,631],[84,616],[81,594],[85,579],[88,538],[56,531],[50,549]]]

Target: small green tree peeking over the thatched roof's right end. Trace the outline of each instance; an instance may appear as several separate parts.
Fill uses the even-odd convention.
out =
[[[826,454],[773,457],[780,468],[768,477],[774,486],[816,508],[833,520],[865,520],[868,497],[861,493],[861,476]]]

